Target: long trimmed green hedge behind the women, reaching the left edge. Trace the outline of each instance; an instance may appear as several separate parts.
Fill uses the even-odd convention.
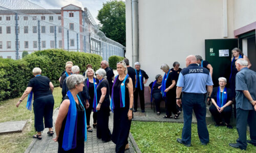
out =
[[[33,78],[34,67],[41,68],[42,75],[48,77],[54,86],[59,86],[58,79],[67,61],[78,65],[82,73],[87,64],[91,64],[95,70],[100,68],[102,58],[89,53],[47,49],[27,55],[22,60],[0,59],[0,101],[20,96]]]

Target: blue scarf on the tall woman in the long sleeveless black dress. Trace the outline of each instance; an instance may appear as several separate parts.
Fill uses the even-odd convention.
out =
[[[113,112],[113,110],[115,109],[115,104],[114,104],[114,99],[113,99],[113,94],[114,94],[114,85],[116,83],[116,80],[118,79],[119,75],[116,76],[115,78],[115,81],[113,83],[113,86],[112,86],[112,93],[111,93],[111,101],[110,101],[110,108],[111,108],[111,111]],[[125,107],[125,81],[127,80],[127,78],[129,77],[129,74],[126,74],[123,82],[121,83],[121,86],[120,86],[120,91],[119,91],[119,94],[120,94],[120,108],[124,108]]]

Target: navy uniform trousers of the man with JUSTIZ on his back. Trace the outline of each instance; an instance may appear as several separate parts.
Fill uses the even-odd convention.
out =
[[[186,93],[182,94],[182,109],[184,126],[182,130],[182,141],[185,144],[191,143],[191,121],[193,110],[197,118],[197,131],[202,143],[209,142],[209,133],[206,126],[206,105],[204,103],[205,94],[203,93]]]

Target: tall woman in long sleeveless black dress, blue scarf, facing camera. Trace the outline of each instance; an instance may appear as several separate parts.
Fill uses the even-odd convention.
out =
[[[116,144],[116,152],[124,152],[130,148],[128,136],[133,112],[133,81],[124,62],[117,63],[117,72],[110,105],[114,112],[112,141]]]

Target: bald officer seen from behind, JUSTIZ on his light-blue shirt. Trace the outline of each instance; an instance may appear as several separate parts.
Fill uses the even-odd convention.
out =
[[[185,146],[191,145],[191,121],[193,110],[197,117],[197,129],[199,139],[202,145],[209,142],[209,133],[206,126],[206,104],[205,97],[208,92],[212,91],[211,75],[209,70],[197,65],[197,58],[190,55],[186,58],[186,68],[182,69],[177,82],[176,99],[177,105],[182,102],[184,126],[182,130],[182,138],[177,141]],[[207,91],[205,86],[207,86]],[[182,101],[180,98],[181,91]],[[208,97],[207,97],[208,98]]]

